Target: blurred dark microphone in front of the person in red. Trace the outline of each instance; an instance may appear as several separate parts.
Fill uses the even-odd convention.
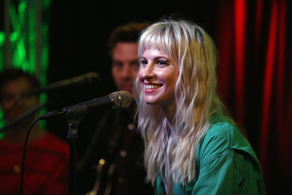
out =
[[[25,95],[39,94],[41,92],[51,92],[55,90],[61,90],[69,87],[75,87],[83,84],[91,84],[94,81],[100,81],[100,75],[96,72],[89,72],[78,77],[73,77],[70,79],[53,82],[51,84],[47,84],[45,87],[32,89],[27,92]]]

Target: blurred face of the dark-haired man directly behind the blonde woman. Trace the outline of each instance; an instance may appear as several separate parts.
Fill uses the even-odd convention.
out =
[[[117,43],[112,50],[112,77],[117,89],[128,91],[132,98],[132,87],[138,70],[138,43]]]

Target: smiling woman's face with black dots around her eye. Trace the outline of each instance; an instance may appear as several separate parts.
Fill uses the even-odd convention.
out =
[[[146,50],[138,72],[145,103],[157,104],[162,108],[173,105],[178,74],[178,64],[167,54],[154,48]]]

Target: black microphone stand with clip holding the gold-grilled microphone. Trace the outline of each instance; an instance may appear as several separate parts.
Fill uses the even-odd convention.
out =
[[[66,114],[68,124],[69,139],[69,195],[75,195],[76,193],[76,140],[78,138],[78,125],[84,116],[87,115],[86,106],[79,106],[69,109]]]

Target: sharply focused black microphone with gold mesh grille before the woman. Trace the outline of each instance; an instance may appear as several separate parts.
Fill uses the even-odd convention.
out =
[[[95,109],[123,109],[127,108],[131,104],[131,95],[127,91],[117,91],[113,92],[107,96],[93,99],[91,101],[86,101],[83,103],[74,104],[72,106],[67,106],[61,110],[51,111],[40,116],[40,120],[46,120],[47,118],[52,118],[55,116],[64,117],[72,108],[80,108],[79,111],[88,110],[93,111]]]

